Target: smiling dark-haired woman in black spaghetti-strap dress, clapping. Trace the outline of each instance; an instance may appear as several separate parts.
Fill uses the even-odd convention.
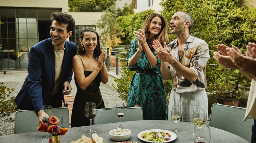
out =
[[[84,114],[86,102],[95,102],[97,109],[105,108],[99,86],[100,82],[108,82],[106,51],[100,50],[98,33],[93,28],[83,28],[79,41],[78,54],[73,58],[77,92],[72,109],[72,127],[90,125]]]

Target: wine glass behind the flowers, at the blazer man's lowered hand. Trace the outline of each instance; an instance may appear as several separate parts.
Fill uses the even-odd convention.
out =
[[[47,123],[49,118],[51,116],[53,116],[53,109],[51,105],[43,105],[41,108],[41,119],[44,123]],[[46,135],[43,136],[43,139],[50,139],[51,135],[48,134],[48,132],[46,132]]]

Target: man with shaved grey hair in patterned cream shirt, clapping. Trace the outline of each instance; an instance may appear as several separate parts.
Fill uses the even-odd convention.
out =
[[[161,60],[161,74],[164,80],[172,77],[168,119],[173,107],[181,110],[181,121],[193,122],[194,111],[203,111],[208,116],[206,95],[206,63],[210,59],[207,43],[190,34],[193,19],[186,12],[176,12],[170,21],[171,33],[177,39],[164,47],[154,40],[156,57]]]

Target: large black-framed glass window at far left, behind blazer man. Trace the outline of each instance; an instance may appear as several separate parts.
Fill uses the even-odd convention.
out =
[[[29,49],[50,38],[54,11],[61,9],[0,7],[0,71],[27,69]]]

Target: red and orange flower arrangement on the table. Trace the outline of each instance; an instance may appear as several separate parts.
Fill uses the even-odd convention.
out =
[[[61,125],[63,124],[63,116],[61,115],[60,119]],[[65,135],[68,131],[68,128],[64,128],[63,126],[59,126],[59,120],[55,116],[51,116],[46,123],[40,124],[37,127],[37,130],[40,132],[48,132],[53,136],[57,135]],[[52,138],[50,138],[49,142],[52,142]]]

